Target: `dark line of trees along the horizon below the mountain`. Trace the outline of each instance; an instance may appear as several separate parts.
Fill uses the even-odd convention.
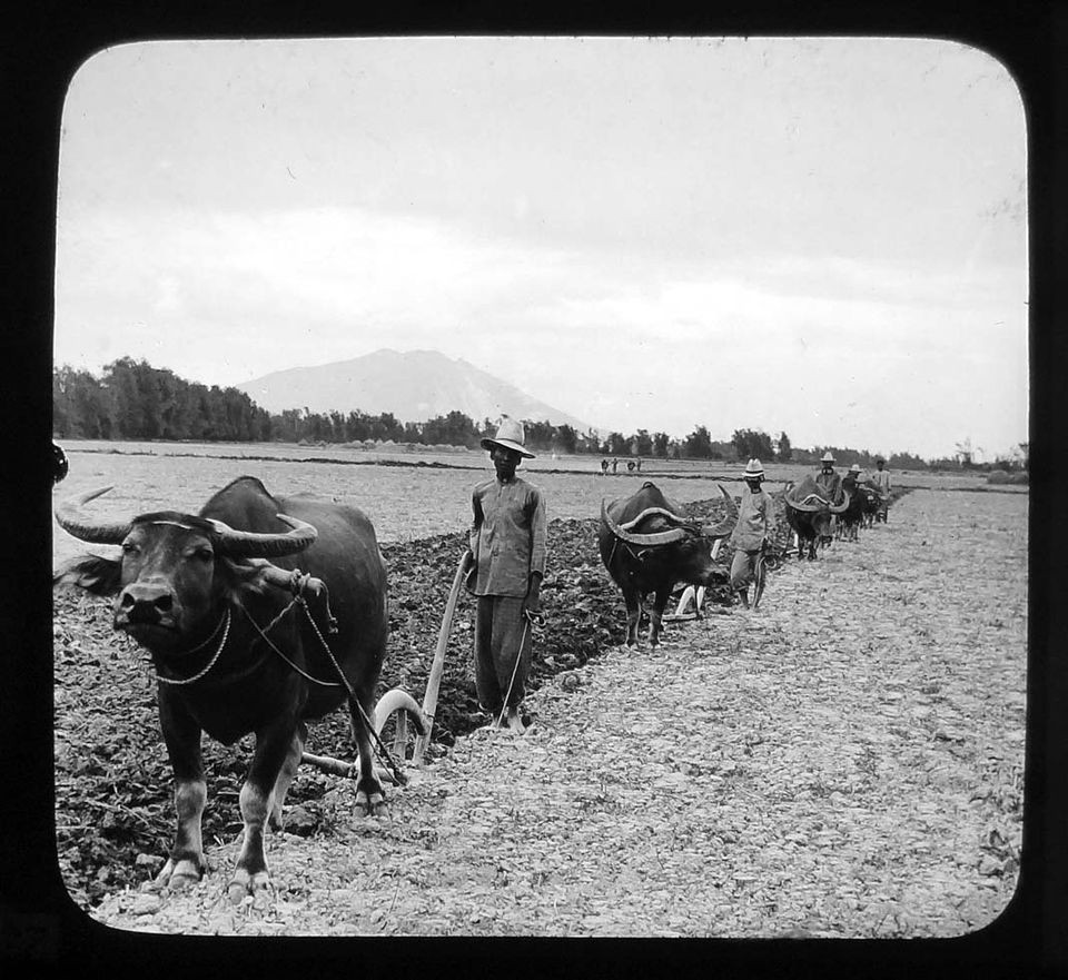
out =
[[[578,432],[570,425],[523,419],[526,443],[543,453],[639,456],[661,459],[735,462],[756,457],[763,462],[815,464],[830,451],[835,463],[863,468],[874,466],[876,454],[848,446],[793,446],[785,432],[772,438],[760,429],[735,429],[729,440],[713,439],[696,425],[688,436],[674,438],[663,432],[640,428],[635,433],[611,432],[603,439],[596,430]],[[100,377],[68,365],[52,372],[52,430],[56,438],[165,439],[192,442],[286,443],[412,443],[476,448],[493,435],[496,422],[478,422],[462,412],[427,422],[402,422],[392,413],[372,415],[362,410],[315,413],[290,408],[271,414],[237,388],[198,384],[145,360],[120,357],[106,365]],[[959,448],[959,447],[958,447]],[[1027,444],[1010,459],[993,465],[1012,471],[1027,467]],[[891,453],[887,464],[894,469],[990,468],[968,454],[923,461],[911,453]]]

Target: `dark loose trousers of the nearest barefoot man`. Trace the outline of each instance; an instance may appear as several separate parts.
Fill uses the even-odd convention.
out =
[[[475,690],[484,711],[500,714],[512,682],[508,707],[526,693],[531,671],[531,630],[523,615],[523,598],[511,595],[479,595],[475,611]],[[520,649],[522,642],[523,647]],[[516,654],[520,664],[516,666]],[[515,681],[512,672],[515,671]]]

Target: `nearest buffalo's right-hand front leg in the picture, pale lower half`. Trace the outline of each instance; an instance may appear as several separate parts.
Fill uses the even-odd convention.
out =
[[[231,901],[240,901],[246,894],[255,894],[270,884],[264,849],[264,828],[275,783],[297,740],[297,724],[295,719],[281,720],[256,733],[253,764],[239,796],[245,835],[234,878],[228,885]]]

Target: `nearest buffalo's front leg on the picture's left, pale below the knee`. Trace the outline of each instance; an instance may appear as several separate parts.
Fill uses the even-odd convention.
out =
[[[169,692],[159,692],[159,720],[175,773],[175,812],[178,828],[158,884],[182,888],[199,881],[207,870],[200,819],[208,799],[200,756],[200,725]]]

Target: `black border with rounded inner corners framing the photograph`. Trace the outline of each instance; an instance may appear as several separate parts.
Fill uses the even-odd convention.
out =
[[[11,14],[9,13],[10,18]],[[56,861],[50,591],[51,369],[56,187],[67,86],[96,51],[188,38],[404,34],[856,36],[955,40],[998,58],[1016,78],[1028,122],[1030,253],[1030,555],[1028,739],[1024,854],[1017,894],[990,925],[938,940],[390,940],[155,937],[109,930],[67,895]],[[743,976],[861,976],[923,969],[972,976],[1068,972],[1068,554],[1064,405],[1068,346],[1068,4],[950,0],[788,4],[672,3],[635,10],[582,0],[566,8],[455,2],[427,10],[98,0],[27,6],[0,32],[0,107],[9,179],[0,194],[7,377],[0,389],[9,553],[0,588],[0,963],[140,968],[188,976],[231,964],[274,974],[301,966],[388,973],[731,970]],[[1062,328],[1064,325],[1064,328]],[[7,465],[18,461],[14,465]],[[13,765],[12,765],[13,763]],[[239,957],[239,963],[234,958]],[[11,976],[9,973],[9,976]]]

